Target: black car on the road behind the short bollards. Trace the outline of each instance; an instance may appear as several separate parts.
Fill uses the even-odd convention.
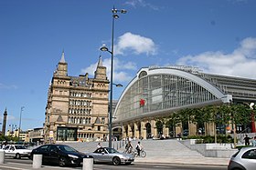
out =
[[[81,165],[83,158],[90,158],[90,155],[80,153],[69,145],[41,145],[32,150],[33,155],[43,155],[42,164]]]

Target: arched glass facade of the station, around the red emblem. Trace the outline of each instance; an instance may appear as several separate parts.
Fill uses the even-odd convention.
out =
[[[144,105],[140,101],[144,100]],[[216,100],[206,88],[177,75],[145,75],[127,89],[116,108],[119,121],[149,112]]]

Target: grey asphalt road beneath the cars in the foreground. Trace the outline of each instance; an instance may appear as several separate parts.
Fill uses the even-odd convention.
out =
[[[32,161],[26,158],[23,159],[13,159],[13,158],[7,158],[5,159],[8,163],[17,163],[20,165],[31,165]],[[51,166],[51,165],[47,165]],[[10,168],[1,167],[1,170],[11,170]],[[56,165],[52,165],[52,169],[82,169],[81,167],[65,167],[61,168]],[[96,164],[93,165],[93,170],[227,170],[227,166],[221,166],[221,165],[169,165],[169,164],[148,164],[148,163],[133,163],[132,165],[106,165],[106,164]]]

